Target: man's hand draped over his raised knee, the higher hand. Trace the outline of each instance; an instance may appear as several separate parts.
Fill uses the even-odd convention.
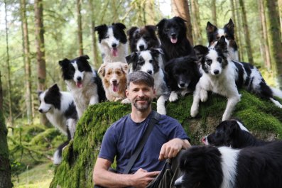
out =
[[[181,149],[189,148],[191,145],[188,140],[182,140],[180,138],[174,138],[164,143],[161,147],[161,152],[158,160],[164,160],[168,158],[173,158],[178,155]]]

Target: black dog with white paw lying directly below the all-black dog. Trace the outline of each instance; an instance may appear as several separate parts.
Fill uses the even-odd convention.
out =
[[[166,78],[170,89],[169,101],[178,100],[178,94],[194,92],[200,79],[200,72],[195,56],[188,55],[170,60],[166,67]]]

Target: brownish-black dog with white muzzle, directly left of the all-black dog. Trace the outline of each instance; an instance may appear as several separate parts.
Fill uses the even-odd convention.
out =
[[[156,35],[156,26],[131,27],[126,33],[131,52],[159,48],[161,45]]]

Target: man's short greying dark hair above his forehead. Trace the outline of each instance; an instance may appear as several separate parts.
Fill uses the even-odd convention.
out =
[[[148,87],[154,87],[154,81],[151,74],[140,70],[128,74],[127,87],[129,87],[130,82],[133,82],[134,84],[143,83],[146,84]]]

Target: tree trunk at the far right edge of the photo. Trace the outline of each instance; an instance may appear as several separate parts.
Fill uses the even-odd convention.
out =
[[[266,5],[269,13],[269,45],[271,48],[272,69],[276,74],[278,87],[282,89],[282,43],[277,1],[267,0]]]

